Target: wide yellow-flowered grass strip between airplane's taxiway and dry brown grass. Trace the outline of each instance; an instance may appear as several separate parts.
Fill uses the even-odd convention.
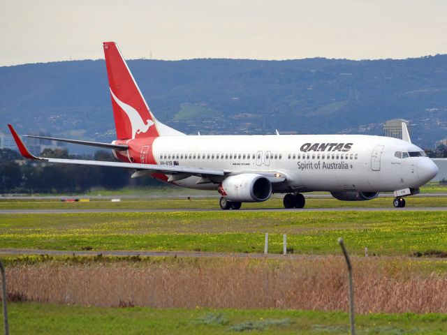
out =
[[[409,255],[447,252],[442,211],[178,211],[159,213],[3,214],[2,248],[170,250],[281,253],[282,234],[294,253]]]

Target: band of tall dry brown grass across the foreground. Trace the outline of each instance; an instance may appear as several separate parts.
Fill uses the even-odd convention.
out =
[[[194,308],[348,308],[339,257],[294,260],[177,259],[13,265],[11,297],[61,304]],[[354,260],[356,311],[447,313],[447,277],[403,260]]]

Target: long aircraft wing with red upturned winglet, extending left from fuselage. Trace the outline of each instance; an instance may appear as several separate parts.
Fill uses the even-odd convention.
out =
[[[230,171],[219,169],[205,169],[205,168],[188,168],[184,166],[171,166],[171,165],[155,165],[155,164],[140,164],[140,163],[123,163],[123,162],[105,162],[105,161],[87,161],[82,159],[63,159],[63,158],[45,158],[36,157],[29,152],[27,147],[20,139],[19,135],[15,132],[13,126],[8,124],[9,130],[14,137],[15,144],[19,148],[20,154],[24,158],[34,159],[38,161],[46,161],[48,163],[65,163],[65,164],[78,164],[78,165],[95,165],[95,166],[110,166],[114,168],[127,168],[134,170],[148,170],[151,172],[161,172],[165,174],[190,174],[196,176],[223,176]]]

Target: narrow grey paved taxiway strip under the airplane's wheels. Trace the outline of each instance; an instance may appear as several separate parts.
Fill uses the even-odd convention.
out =
[[[1,214],[80,214],[80,213],[161,213],[175,211],[222,211],[221,209],[2,209]],[[447,207],[332,207],[332,208],[304,208],[304,209],[239,209],[241,211],[447,211]]]

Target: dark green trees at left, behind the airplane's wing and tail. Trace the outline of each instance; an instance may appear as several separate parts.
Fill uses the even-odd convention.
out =
[[[66,149],[45,149],[47,158],[116,161],[107,151],[93,156],[68,154]],[[94,187],[161,186],[151,177],[131,179],[133,170],[91,165],[42,163],[22,159],[16,151],[0,149],[0,193],[86,193]]]

